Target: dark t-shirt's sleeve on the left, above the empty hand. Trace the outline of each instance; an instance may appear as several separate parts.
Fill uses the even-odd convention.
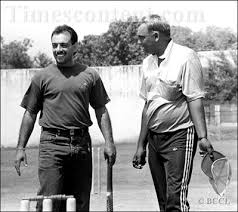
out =
[[[32,79],[20,105],[34,114],[37,114],[42,109],[41,89],[34,79]]]

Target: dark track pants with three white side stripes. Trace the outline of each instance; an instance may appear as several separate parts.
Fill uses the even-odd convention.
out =
[[[188,184],[197,148],[194,127],[168,133],[149,131],[149,166],[160,211],[189,211]]]

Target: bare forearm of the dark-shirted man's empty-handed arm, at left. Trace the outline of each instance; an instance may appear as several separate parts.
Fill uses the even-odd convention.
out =
[[[36,114],[31,114],[25,111],[20,127],[17,147],[24,148],[27,145],[28,139],[33,131],[36,121]]]

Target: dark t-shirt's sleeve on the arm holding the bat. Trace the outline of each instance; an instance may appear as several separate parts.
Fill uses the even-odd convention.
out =
[[[95,84],[92,87],[89,101],[94,109],[103,107],[110,101],[100,77],[96,79]]]

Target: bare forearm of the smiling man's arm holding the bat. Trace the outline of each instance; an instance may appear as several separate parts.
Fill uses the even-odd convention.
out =
[[[102,107],[95,110],[98,126],[103,134],[106,143],[114,143],[112,126],[107,108]]]

